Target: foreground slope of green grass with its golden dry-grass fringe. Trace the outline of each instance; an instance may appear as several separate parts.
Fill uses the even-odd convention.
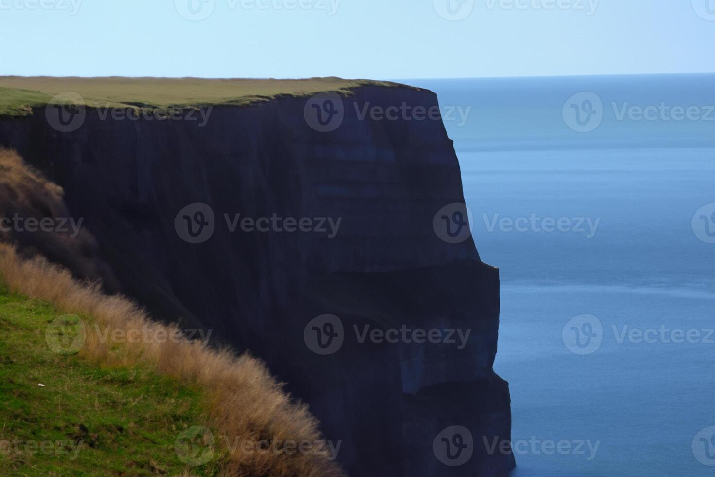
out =
[[[0,244],[0,277],[5,469],[176,475],[184,464],[184,475],[342,476],[315,418],[255,358],[167,340],[183,330],[10,245]],[[141,338],[132,338],[137,330]],[[27,449],[18,457],[5,442],[18,439],[61,441],[54,448],[66,451],[84,441],[91,450],[75,461]]]

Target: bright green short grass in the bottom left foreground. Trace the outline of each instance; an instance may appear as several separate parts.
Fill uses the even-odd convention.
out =
[[[216,475],[220,456],[189,468],[174,448],[179,433],[206,421],[201,392],[54,353],[45,332],[59,315],[0,283],[0,475]]]

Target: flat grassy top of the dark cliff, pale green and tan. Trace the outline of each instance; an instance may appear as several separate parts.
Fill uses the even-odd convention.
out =
[[[281,95],[310,96],[361,86],[398,87],[397,83],[366,79],[201,79],[201,78],[79,78],[0,77],[0,116],[30,114],[56,94],[79,94],[87,106],[199,107],[248,106]]]

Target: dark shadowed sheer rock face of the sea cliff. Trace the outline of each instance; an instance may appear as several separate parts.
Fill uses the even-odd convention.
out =
[[[433,228],[438,210],[464,202],[452,142],[441,121],[360,119],[353,106],[403,103],[437,98],[359,88],[332,132],[312,129],[298,98],[215,108],[204,127],[88,110],[82,127],[61,133],[37,110],[1,119],[0,144],[64,188],[108,265],[97,267],[108,291],[266,360],[327,439],[342,441],[337,461],[350,475],[503,476],[513,458],[484,444],[511,429],[508,385],[492,370],[498,270],[471,238],[448,243]],[[242,230],[245,217],[282,222]],[[212,233],[192,237],[189,225]],[[312,321],[322,315],[337,318]],[[370,339],[404,328],[455,343]],[[335,335],[332,349],[320,347],[333,343],[321,332]],[[461,466],[435,455],[450,426],[472,436]]]

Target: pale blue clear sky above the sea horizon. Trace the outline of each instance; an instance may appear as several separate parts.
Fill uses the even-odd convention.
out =
[[[0,75],[715,72],[715,0],[0,0]]]

